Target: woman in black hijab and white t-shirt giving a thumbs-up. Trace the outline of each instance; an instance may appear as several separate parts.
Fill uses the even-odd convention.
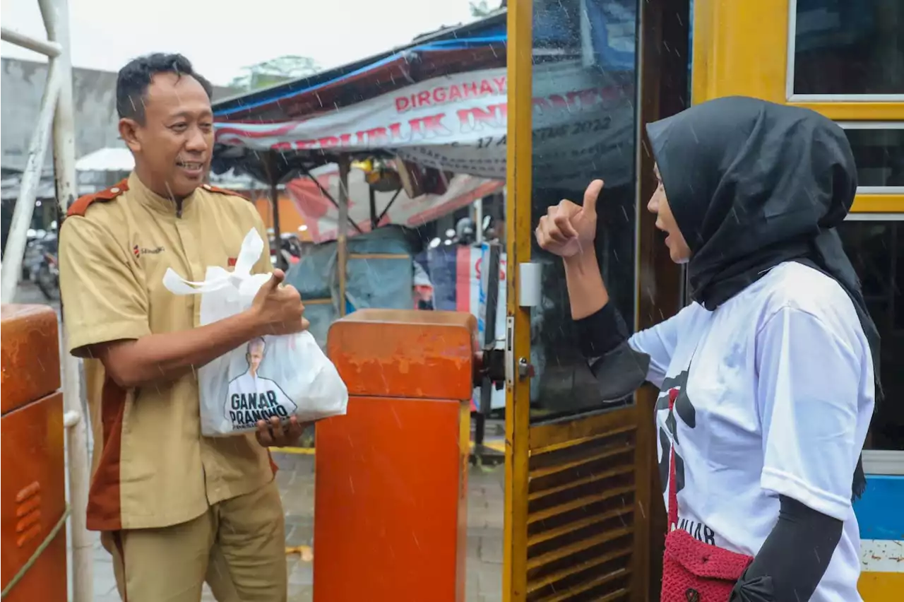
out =
[[[851,504],[881,390],[879,335],[835,231],[857,189],[847,138],[808,109],[741,97],[647,134],[648,209],[687,264],[691,306],[627,337],[593,251],[600,181],[582,206],[551,207],[536,236],[565,260],[607,397],[661,390],[662,599],[860,600]]]

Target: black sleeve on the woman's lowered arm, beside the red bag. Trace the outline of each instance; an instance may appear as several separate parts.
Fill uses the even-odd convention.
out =
[[[778,496],[778,522],[729,602],[805,602],[828,569],[844,523]]]

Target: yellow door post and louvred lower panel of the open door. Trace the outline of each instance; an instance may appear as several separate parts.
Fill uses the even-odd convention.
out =
[[[531,358],[531,308],[519,303],[519,267],[532,253],[532,0],[508,4],[507,125],[507,383],[505,420],[505,516],[503,599],[524,602],[541,596],[557,602],[589,592],[605,599],[645,600],[649,591],[649,522],[654,492],[652,406],[594,411],[546,423],[531,421],[530,377],[517,366]],[[654,398],[654,396],[653,396]],[[554,487],[538,485],[573,466],[611,458],[604,474],[580,475]],[[614,479],[590,492],[591,481]],[[545,508],[538,499],[554,501]],[[581,519],[569,514],[599,504]],[[568,514],[569,518],[563,516]],[[560,519],[546,528],[544,522]],[[623,521],[624,525],[612,522]],[[542,528],[540,528],[542,525]],[[589,528],[598,531],[588,532]],[[559,543],[561,541],[562,543]],[[586,561],[569,563],[586,552]],[[564,564],[563,564],[564,563]],[[547,567],[554,569],[546,571]],[[587,572],[598,569],[593,575]],[[546,572],[538,572],[546,571]],[[530,578],[529,578],[530,577]],[[569,585],[552,592],[552,584]],[[606,588],[600,592],[599,588]],[[611,597],[611,598],[610,598]],[[603,599],[603,598],[600,598]]]

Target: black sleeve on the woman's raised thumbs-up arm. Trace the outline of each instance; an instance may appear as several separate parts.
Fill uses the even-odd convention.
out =
[[[625,399],[646,380],[650,356],[627,343],[625,320],[611,303],[596,314],[575,320],[580,351],[599,382],[604,402]]]

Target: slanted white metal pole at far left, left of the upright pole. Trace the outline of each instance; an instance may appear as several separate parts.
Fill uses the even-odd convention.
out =
[[[41,172],[44,155],[47,153],[47,140],[53,120],[53,109],[56,107],[60,92],[61,69],[59,59],[50,60],[50,71],[47,84],[41,99],[41,111],[38,114],[38,126],[34,129],[32,142],[28,146],[28,158],[22,174],[22,187],[19,198],[15,202],[13,221],[9,227],[9,238],[6,240],[6,251],[3,266],[0,267],[0,303],[13,303],[15,289],[19,286],[19,272],[25,253],[25,241],[28,228],[32,223],[34,200],[38,186],[41,184]]]

